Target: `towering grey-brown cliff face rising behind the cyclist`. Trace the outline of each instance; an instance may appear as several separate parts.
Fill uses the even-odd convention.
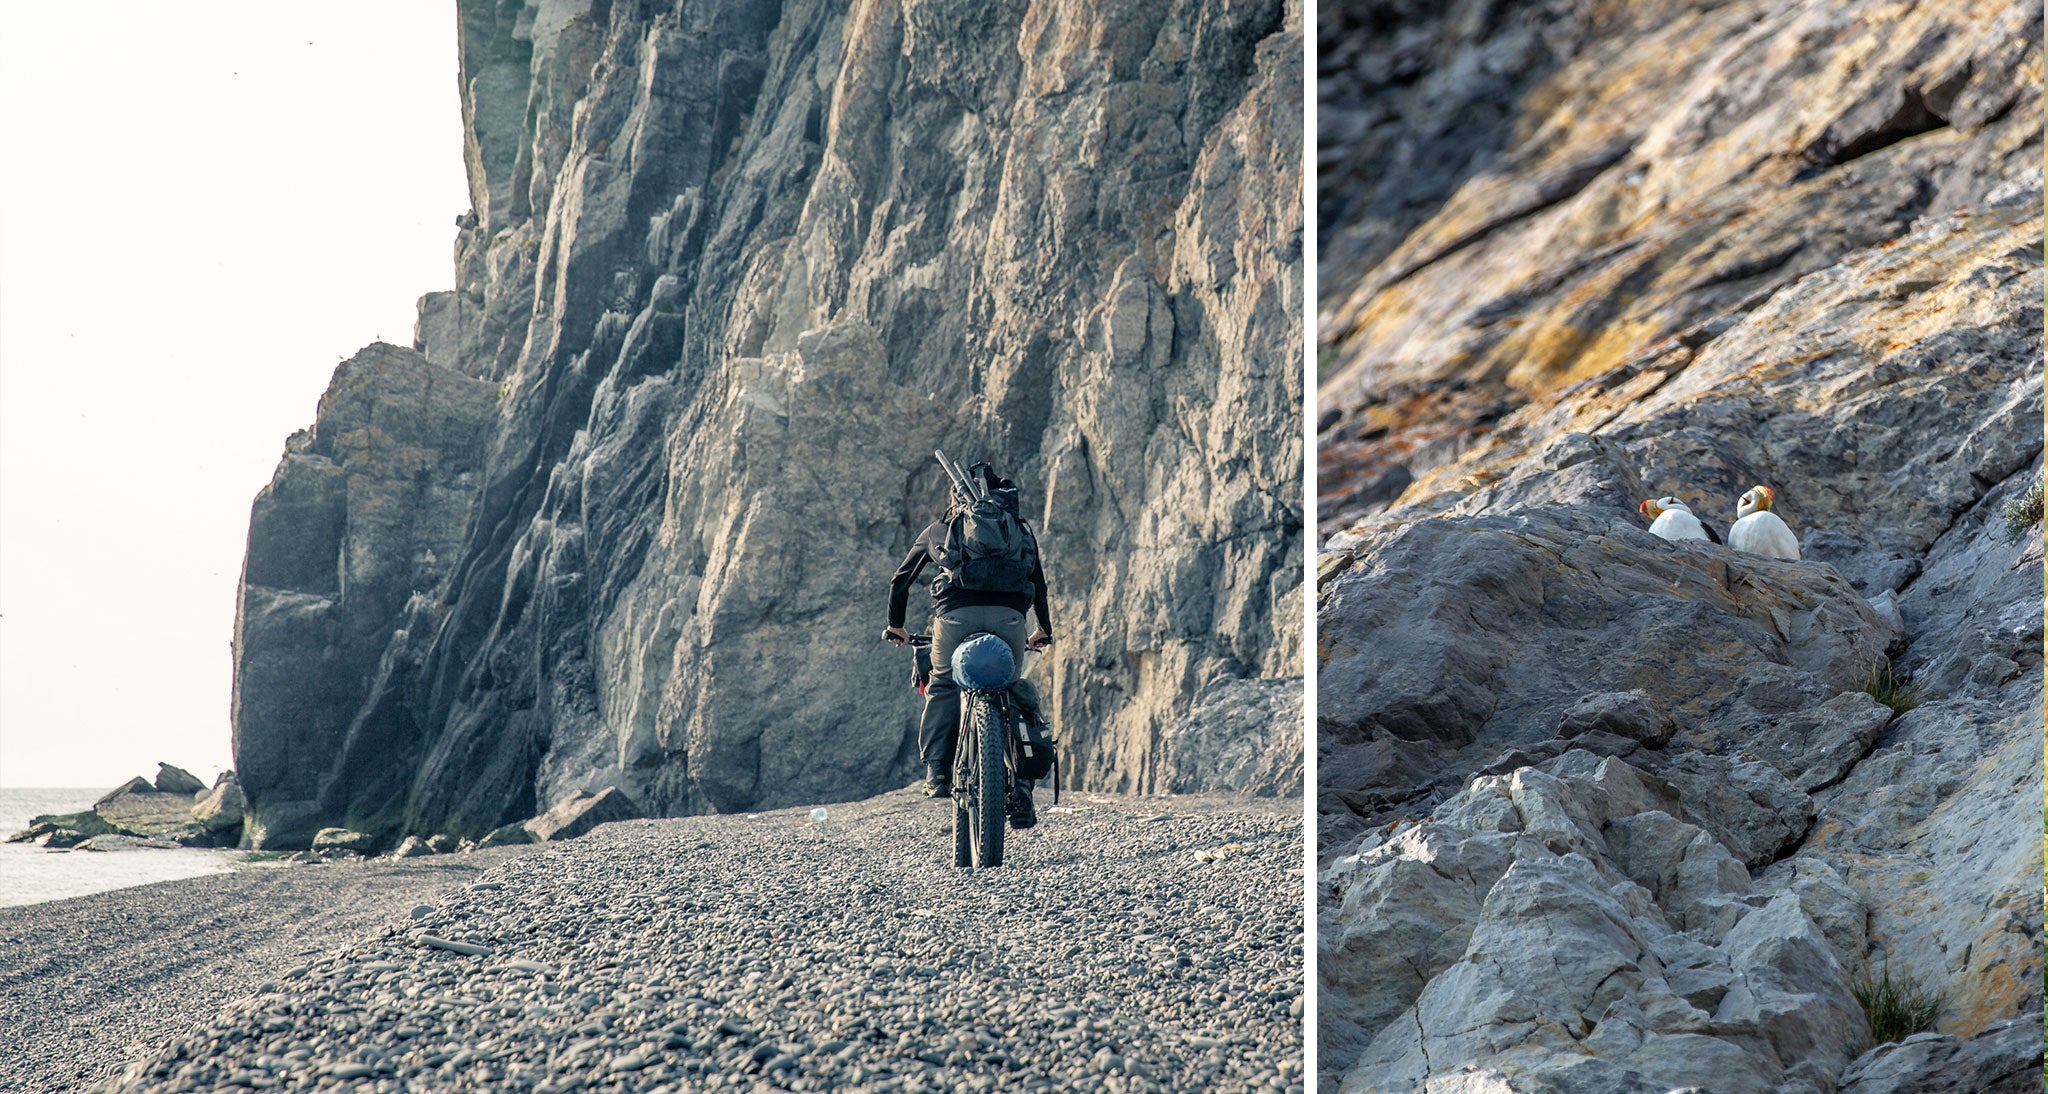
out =
[[[1026,486],[1071,779],[1294,793],[1292,4],[459,10],[475,207],[418,350],[494,414],[422,471],[459,535],[367,533],[432,551],[408,596],[268,576],[291,455],[258,500],[238,756],[295,752],[244,768],[258,842],[901,785],[879,631],[934,445]],[[250,611],[301,596],[350,623]],[[1217,711],[1268,758],[1194,748]]]

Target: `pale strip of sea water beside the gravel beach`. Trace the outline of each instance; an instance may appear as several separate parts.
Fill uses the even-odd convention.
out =
[[[29,828],[29,819],[41,813],[90,809],[102,793],[106,791],[0,789],[0,840]],[[225,850],[45,850],[35,844],[0,844],[0,908],[231,869],[233,856]]]

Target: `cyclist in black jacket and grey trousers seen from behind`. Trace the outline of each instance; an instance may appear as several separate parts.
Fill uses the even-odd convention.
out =
[[[961,733],[961,688],[952,680],[952,647],[987,631],[1010,643],[1010,654],[1022,666],[1026,649],[1044,649],[1053,643],[1044,565],[1038,557],[1036,535],[1018,516],[1018,486],[997,475],[987,463],[977,463],[967,473],[987,483],[985,496],[1008,510],[1008,516],[1022,531],[1022,545],[1008,565],[995,559],[993,565],[983,565],[979,572],[952,574],[940,563],[940,574],[932,580],[932,611],[938,619],[932,625],[932,678],[924,692],[924,719],[918,723],[918,754],[926,768],[924,793],[928,797],[952,797],[952,754]],[[926,563],[946,555],[946,537],[952,533],[958,539],[954,524],[963,520],[971,504],[971,498],[954,490],[946,516],[932,520],[903,555],[903,565],[889,582],[889,627],[883,637],[891,643],[909,641],[909,633],[903,631],[909,586]],[[1026,611],[1038,617],[1038,629],[1030,637],[1024,637]],[[1020,779],[1010,795],[1010,826],[1030,828],[1032,824],[1036,824],[1036,811],[1030,801],[1030,783]]]

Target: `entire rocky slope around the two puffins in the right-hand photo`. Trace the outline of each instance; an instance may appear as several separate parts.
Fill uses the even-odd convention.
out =
[[[1331,1088],[2038,1086],[2040,18],[1325,6]]]

